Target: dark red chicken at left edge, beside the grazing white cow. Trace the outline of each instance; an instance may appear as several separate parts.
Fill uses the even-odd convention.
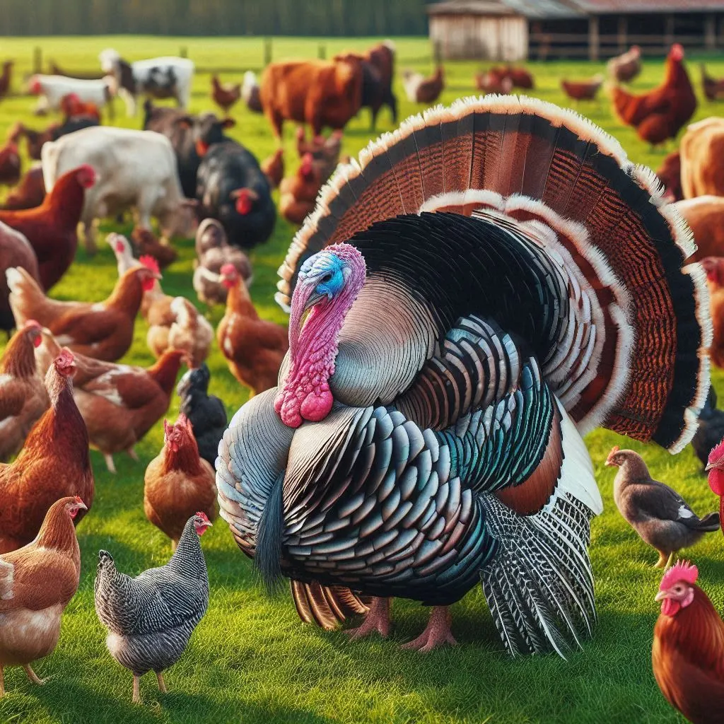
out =
[[[0,222],[25,234],[38,257],[46,292],[68,270],[78,247],[77,225],[83,212],[85,189],[96,182],[93,167],[83,165],[59,178],[35,209],[0,211]]]

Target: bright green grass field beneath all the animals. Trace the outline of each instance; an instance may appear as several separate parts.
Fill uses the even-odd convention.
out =
[[[315,57],[319,40],[274,41],[274,58]],[[369,38],[329,40],[331,56],[345,47],[364,48]],[[53,58],[72,70],[93,70],[98,51],[115,47],[129,59],[176,54],[180,46],[198,66],[260,67],[263,57],[259,39],[230,38],[3,38],[0,60],[14,58],[18,75],[14,90],[20,93],[20,76],[30,71],[34,46],[42,46],[45,58]],[[432,68],[429,46],[423,39],[397,42],[398,68]],[[712,75],[724,75],[724,59],[708,62]],[[698,87],[698,69],[689,62]],[[476,63],[447,64],[448,86],[442,101],[473,93]],[[566,104],[560,92],[561,77],[588,77],[602,64],[530,64],[536,77],[534,95]],[[662,77],[662,62],[647,62],[634,88],[644,90]],[[396,83],[401,118],[420,109],[405,100]],[[211,109],[208,75],[195,78],[193,111]],[[14,96],[0,101],[0,135],[21,119],[41,127],[49,119],[35,119],[35,99]],[[613,119],[602,93],[598,103],[579,109],[615,135],[634,161],[659,166],[665,150],[650,152],[632,130]],[[117,111],[123,114],[117,101]],[[705,101],[696,119],[717,114],[717,106]],[[235,138],[261,159],[274,148],[269,127],[262,117],[240,106],[235,109]],[[119,125],[138,127],[140,118],[117,118]],[[379,131],[390,130],[387,111],[379,119]],[[366,145],[368,111],[348,126],[344,151],[357,153]],[[292,126],[285,139],[287,164],[296,161]],[[671,146],[673,148],[673,146]],[[101,230],[114,230],[103,224]],[[125,231],[130,230],[126,228]],[[284,322],[285,314],[272,299],[276,270],[294,229],[279,220],[274,236],[252,254],[253,299],[268,319]],[[177,244],[180,260],[167,270],[162,285],[167,293],[195,300],[191,287],[193,241]],[[116,281],[110,248],[101,243],[95,258],[77,253],[76,263],[54,289],[58,298],[101,300]],[[211,315],[216,324],[222,316]],[[152,357],[146,348],[146,324],[138,321],[135,342],[126,361],[146,365]],[[222,397],[234,413],[247,397],[231,374],[219,350],[209,358],[211,392]],[[720,394],[723,377],[715,375]],[[178,400],[172,401],[174,418]],[[610,447],[634,447],[644,455],[652,475],[678,489],[698,513],[717,508],[699,463],[691,449],[672,458],[654,446],[627,442],[615,434],[598,431],[587,443],[596,466],[605,502],[603,515],[593,523],[591,555],[597,579],[599,622],[592,641],[568,661],[557,657],[509,660],[503,652],[480,592],[473,592],[453,607],[453,633],[460,645],[428,655],[403,652],[400,644],[424,628],[426,610],[411,602],[395,602],[394,630],[390,640],[350,642],[344,633],[324,633],[298,620],[289,596],[267,599],[258,585],[251,563],[237,550],[223,521],[203,538],[209,565],[211,602],[198,626],[188,652],[167,673],[169,694],[156,690],[155,678],[141,682],[143,707],[130,703],[131,676],[117,665],[105,647],[105,631],[93,610],[93,578],[99,548],[110,550],[120,570],[127,573],[161,565],[170,555],[170,544],[143,514],[143,473],[163,442],[157,424],[137,446],[140,462],[117,456],[118,474],[106,472],[97,452],[92,453],[96,473],[93,510],[80,525],[83,554],[80,589],[64,615],[61,639],[54,654],[35,667],[46,686],[33,686],[22,669],[6,671],[7,696],[0,700],[0,724],[80,723],[466,723],[594,724],[631,722],[663,724],[683,721],[662,698],[654,681],[650,652],[652,630],[658,615],[654,594],[660,572],[652,568],[656,554],[620,518],[612,497],[613,471],[603,462]],[[711,534],[690,551],[699,565],[699,583],[719,610],[724,610],[724,556],[722,538]]]

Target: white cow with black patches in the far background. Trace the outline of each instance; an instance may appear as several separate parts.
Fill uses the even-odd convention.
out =
[[[102,51],[98,59],[103,72],[114,76],[118,95],[125,101],[129,116],[135,116],[136,98],[143,95],[176,98],[181,108],[188,108],[194,71],[194,64],[188,58],[151,58],[129,63],[109,48]]]

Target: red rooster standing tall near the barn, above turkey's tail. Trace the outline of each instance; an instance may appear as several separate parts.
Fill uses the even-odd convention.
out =
[[[696,111],[696,96],[683,67],[683,48],[675,43],[666,59],[664,82],[641,96],[613,88],[613,110],[620,121],[633,126],[641,140],[652,146],[676,138]]]

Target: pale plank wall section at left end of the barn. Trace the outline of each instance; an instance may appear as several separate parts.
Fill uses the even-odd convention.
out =
[[[528,53],[528,23],[523,17],[433,15],[430,40],[442,59],[522,60]]]

